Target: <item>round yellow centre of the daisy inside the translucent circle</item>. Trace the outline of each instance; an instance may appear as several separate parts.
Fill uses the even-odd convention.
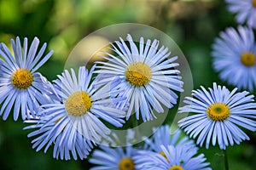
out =
[[[144,86],[151,79],[152,72],[150,67],[143,62],[134,62],[127,66],[125,77],[127,82],[134,86]]]

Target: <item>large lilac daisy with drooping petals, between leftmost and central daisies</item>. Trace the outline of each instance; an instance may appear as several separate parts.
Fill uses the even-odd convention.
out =
[[[92,145],[110,133],[99,118],[122,127],[125,111],[113,105],[115,99],[110,98],[107,88],[95,88],[95,80],[91,82],[94,68],[95,65],[89,72],[80,67],[78,77],[73,69],[58,76],[54,82],[55,99],[42,105],[38,120],[26,121],[34,123],[26,129],[37,128],[28,134],[28,137],[37,136],[32,140],[32,148],[38,151],[45,146],[46,152],[54,144],[54,158],[69,160],[72,152],[75,160],[77,154],[84,159]]]

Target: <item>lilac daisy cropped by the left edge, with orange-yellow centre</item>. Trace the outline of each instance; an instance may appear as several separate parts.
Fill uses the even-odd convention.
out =
[[[40,73],[38,68],[53,54],[50,51],[43,56],[46,43],[38,50],[39,40],[35,37],[31,47],[28,48],[27,38],[24,38],[23,48],[20,38],[11,40],[14,55],[2,42],[0,43],[1,73],[0,73],[0,116],[6,120],[14,108],[14,120],[18,119],[21,112],[23,120],[36,115],[39,106],[44,103],[47,93],[48,81]]]

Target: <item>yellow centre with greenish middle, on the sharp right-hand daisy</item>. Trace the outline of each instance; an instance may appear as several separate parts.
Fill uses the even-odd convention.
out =
[[[230,108],[223,103],[212,104],[207,108],[207,116],[212,121],[224,121],[230,116]]]

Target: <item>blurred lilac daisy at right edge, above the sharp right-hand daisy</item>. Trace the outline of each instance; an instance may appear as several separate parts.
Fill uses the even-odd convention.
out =
[[[212,45],[213,67],[220,78],[237,88],[256,86],[256,47],[253,30],[238,26],[220,32]]]

